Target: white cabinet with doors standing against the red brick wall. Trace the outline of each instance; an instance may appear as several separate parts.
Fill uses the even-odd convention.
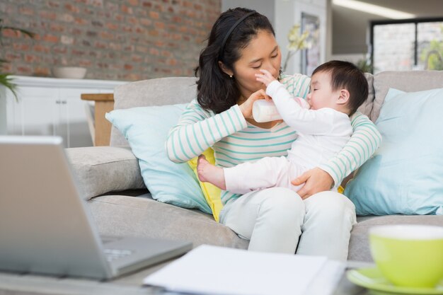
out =
[[[18,101],[6,93],[6,125],[8,135],[58,135],[64,146],[92,146],[82,93],[113,93],[125,81],[86,79],[53,79],[15,76]],[[1,100],[0,100],[1,104]],[[1,105],[0,105],[1,109]],[[1,128],[0,128],[1,131]]]

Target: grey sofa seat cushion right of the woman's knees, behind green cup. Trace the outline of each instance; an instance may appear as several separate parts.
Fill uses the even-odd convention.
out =
[[[372,262],[369,250],[369,229],[372,226],[386,224],[425,224],[443,226],[442,215],[389,215],[389,216],[364,216],[357,218],[356,224],[351,232],[349,243],[348,260],[359,260]]]

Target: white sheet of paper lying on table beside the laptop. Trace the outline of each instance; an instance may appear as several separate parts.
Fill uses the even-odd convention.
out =
[[[201,245],[146,277],[144,284],[194,294],[303,295],[327,262],[321,256]]]

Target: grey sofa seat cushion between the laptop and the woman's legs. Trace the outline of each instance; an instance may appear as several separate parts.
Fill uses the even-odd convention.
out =
[[[183,209],[144,197],[105,195],[89,201],[100,234],[146,236],[192,241],[193,246],[209,244],[248,248],[249,241],[214,221],[212,215]]]

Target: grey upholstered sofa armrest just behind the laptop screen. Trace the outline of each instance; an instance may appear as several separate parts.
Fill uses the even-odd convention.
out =
[[[146,188],[130,148],[90,146],[66,152],[84,199],[106,192]]]

